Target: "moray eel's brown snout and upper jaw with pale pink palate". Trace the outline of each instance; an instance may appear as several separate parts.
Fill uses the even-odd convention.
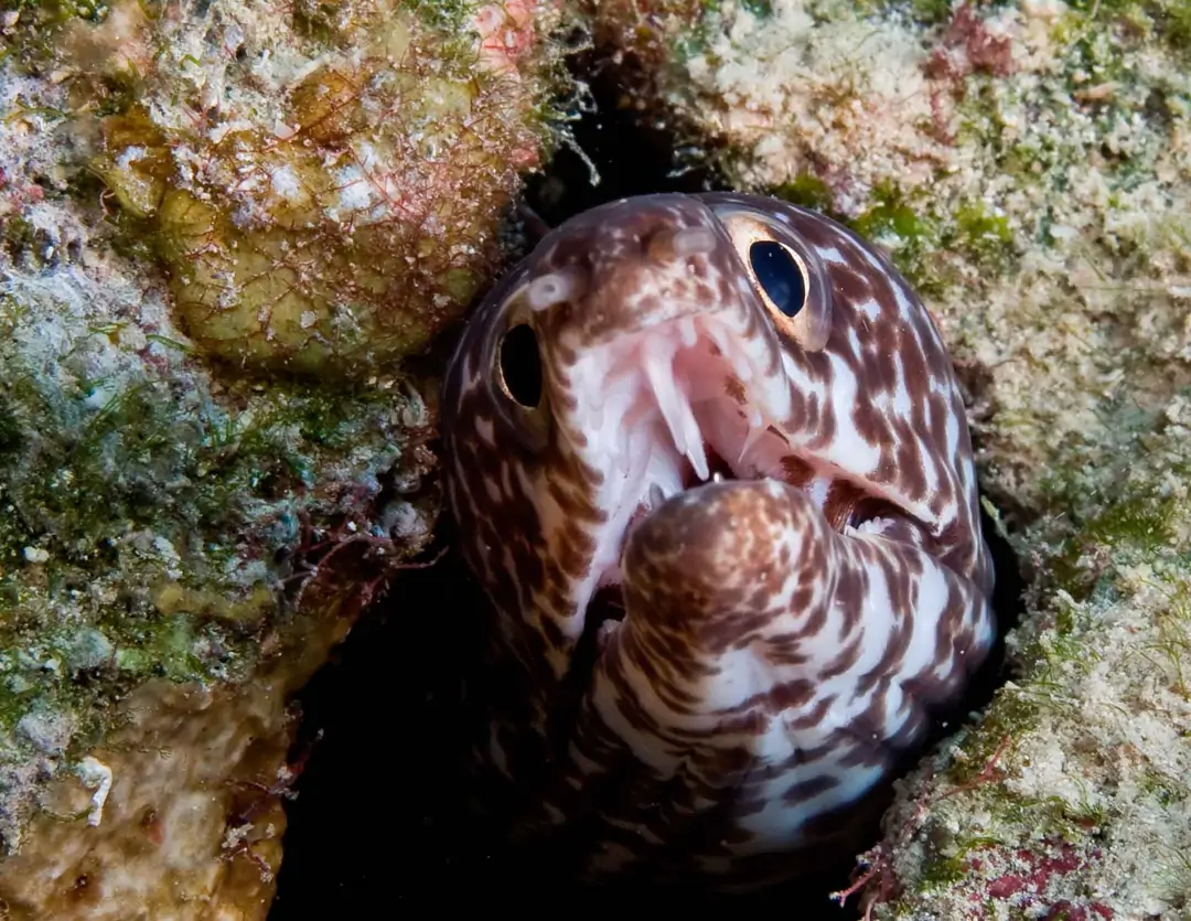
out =
[[[609,206],[615,211],[616,206]],[[724,228],[657,198],[591,216],[529,267],[554,429],[598,472],[593,572],[616,578],[630,519],[750,454],[792,409],[778,334]]]

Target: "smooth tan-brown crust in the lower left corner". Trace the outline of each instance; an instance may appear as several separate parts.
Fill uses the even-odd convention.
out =
[[[276,782],[288,739],[280,690],[141,687],[123,708],[132,724],[91,753],[100,776],[111,772],[99,821],[87,821],[99,784],[68,777],[46,791],[26,844],[0,864],[5,917],[266,917],[285,813],[262,792],[263,809],[242,824],[231,779]],[[262,776],[244,771],[254,763]],[[235,848],[241,839],[251,858]]]

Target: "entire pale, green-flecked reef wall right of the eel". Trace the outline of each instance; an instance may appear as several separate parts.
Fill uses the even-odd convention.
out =
[[[1189,916],[1191,11],[956,6],[928,26],[774,0],[692,26],[680,6],[597,33],[644,43],[643,101],[725,144],[738,185],[893,249],[1033,577],[1015,679],[903,785],[868,907]]]

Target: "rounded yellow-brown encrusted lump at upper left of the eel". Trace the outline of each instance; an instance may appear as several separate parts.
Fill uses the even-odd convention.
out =
[[[67,42],[88,60],[118,42],[101,73],[136,100],[102,119],[91,168],[148,222],[199,347],[347,374],[418,350],[459,316],[550,137],[541,99],[555,61],[534,5],[470,10],[478,46],[400,2],[227,5],[198,19],[124,6],[121,31],[75,23]]]

